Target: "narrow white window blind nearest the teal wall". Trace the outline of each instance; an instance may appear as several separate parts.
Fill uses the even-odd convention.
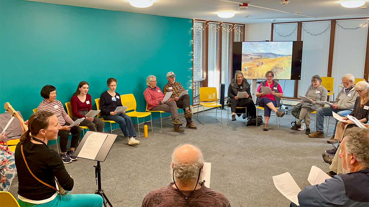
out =
[[[206,22],[193,21],[193,81],[205,78],[206,73]]]

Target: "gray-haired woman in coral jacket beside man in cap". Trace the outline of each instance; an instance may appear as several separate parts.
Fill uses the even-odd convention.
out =
[[[147,88],[144,91],[144,97],[147,103],[147,109],[153,111],[169,112],[172,117],[173,131],[183,132],[180,126],[182,123],[178,119],[177,103],[175,101],[163,101],[164,94],[159,87],[156,86],[156,77],[149,75],[146,78]]]

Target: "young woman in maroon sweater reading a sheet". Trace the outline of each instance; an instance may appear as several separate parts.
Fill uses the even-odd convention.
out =
[[[104,131],[105,123],[98,118],[86,117],[86,114],[92,110],[92,99],[89,92],[89,84],[86,81],[82,81],[78,84],[77,91],[70,99],[70,105],[72,106],[73,121],[80,118],[85,118],[79,126],[87,126],[90,131]]]

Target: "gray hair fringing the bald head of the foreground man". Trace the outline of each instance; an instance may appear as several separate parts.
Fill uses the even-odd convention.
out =
[[[173,150],[173,153],[172,153],[173,169],[172,170],[174,170],[174,179],[176,182],[177,180],[180,180],[182,183],[186,183],[186,182],[191,182],[194,179],[197,180],[197,177],[199,176],[200,168],[204,164],[204,157],[203,157],[201,150],[195,146],[197,150],[199,150],[198,156],[195,159],[193,159],[193,161],[190,163],[181,163],[179,160],[176,159],[175,152],[179,147],[182,147],[182,146],[183,145],[179,145]],[[202,179],[203,179],[203,173],[201,171],[199,182],[202,181]]]

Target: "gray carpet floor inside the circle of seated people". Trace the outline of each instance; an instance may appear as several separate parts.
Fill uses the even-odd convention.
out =
[[[226,115],[223,110],[222,124],[215,120],[214,113],[208,113],[205,125],[194,121],[198,129],[185,128],[183,133],[163,126],[163,132],[141,137],[137,146],[128,145],[125,138],[118,136],[106,161],[101,163],[102,188],[113,206],[141,206],[149,191],[167,186],[172,180],[172,150],[185,143],[199,147],[205,161],[211,162],[210,188],[223,193],[232,207],[289,206],[289,200],[274,187],[272,176],[290,172],[303,189],[310,185],[307,177],[312,165],[329,171],[321,157],[324,150],[332,148],[326,142],[328,137],[309,138],[304,131],[290,130],[294,117],[289,114],[280,119],[279,128],[272,116],[269,131],[263,131],[263,126],[246,127],[242,117],[226,125]],[[200,116],[202,120],[202,112]],[[193,117],[196,120],[196,114]],[[311,126],[313,131],[314,121]],[[333,126],[330,124],[330,134]],[[154,129],[159,130],[160,125],[154,124]],[[93,165],[95,161],[82,158],[65,165],[75,180],[70,193],[95,192]],[[15,178],[10,190],[15,197],[17,189]]]

